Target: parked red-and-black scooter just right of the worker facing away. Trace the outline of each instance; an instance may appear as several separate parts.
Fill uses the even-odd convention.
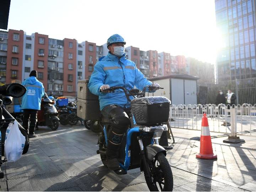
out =
[[[45,93],[41,100],[41,110],[37,113],[37,126],[48,126],[52,130],[59,127],[58,111],[53,105],[54,101]]]

